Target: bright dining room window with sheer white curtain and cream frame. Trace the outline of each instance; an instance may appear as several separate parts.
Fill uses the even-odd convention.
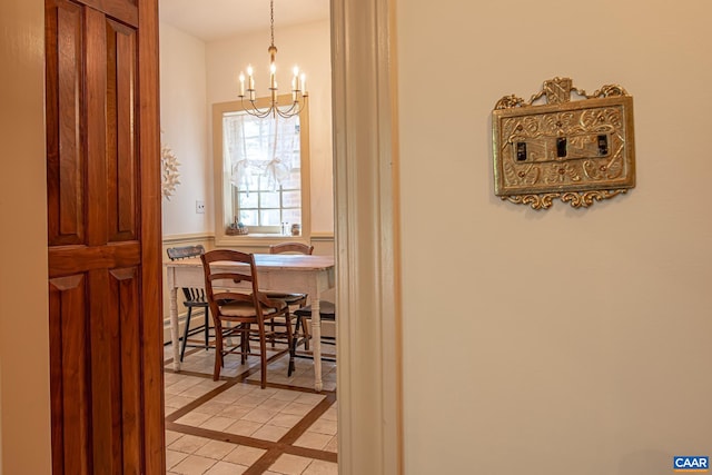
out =
[[[212,111],[216,243],[281,239],[293,235],[293,225],[308,235],[307,108],[288,119],[250,116],[239,101],[217,103]]]

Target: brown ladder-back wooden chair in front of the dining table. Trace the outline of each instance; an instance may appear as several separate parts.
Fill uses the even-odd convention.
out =
[[[270,299],[259,290],[255,256],[251,254],[218,249],[204,254],[200,259],[205,273],[206,297],[215,325],[216,352],[212,379],[219,379],[222,358],[226,355],[239,353],[243,364],[247,360],[248,355],[254,355],[249,342],[250,337],[257,335],[261,387],[264,389],[267,384],[267,339],[286,336],[287,348],[291,352],[289,307],[284,300]],[[225,288],[226,285],[233,283],[245,283],[247,288]],[[285,331],[277,333],[274,329],[267,331],[265,323],[271,323],[275,318],[284,319],[284,324],[279,326],[284,327]],[[236,325],[224,326],[224,323]],[[235,336],[239,337],[237,338],[239,343],[226,348],[226,338]],[[293,366],[291,358],[289,366]]]

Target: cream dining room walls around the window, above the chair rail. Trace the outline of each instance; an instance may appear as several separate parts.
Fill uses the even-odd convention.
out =
[[[279,28],[275,43],[280,91],[288,91],[295,63],[307,75],[312,234],[333,235],[329,23]],[[205,43],[160,23],[161,138],[180,162],[180,185],[170,200],[162,200],[164,236],[214,234],[211,107],[237,100],[237,77],[249,63],[255,68],[258,93],[267,92],[268,46],[268,30]],[[205,214],[196,214],[196,200],[205,201]]]

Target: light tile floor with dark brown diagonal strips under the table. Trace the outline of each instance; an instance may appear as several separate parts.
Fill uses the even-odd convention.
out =
[[[326,346],[327,353],[333,348]],[[267,387],[259,359],[227,356],[212,380],[212,350],[191,349],[180,373],[165,347],[166,467],[184,475],[336,475],[336,364],[323,363],[325,389],[314,392],[314,364],[275,350]]]

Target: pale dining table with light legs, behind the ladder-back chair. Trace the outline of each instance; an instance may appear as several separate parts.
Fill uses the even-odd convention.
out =
[[[300,254],[255,254],[257,280],[261,290],[299,293],[309,296],[312,304],[312,348],[314,356],[314,388],[320,392],[322,382],[322,319],[319,300],[323,293],[335,286],[334,256]],[[226,263],[226,266],[239,265]],[[199,257],[165,261],[169,291],[170,337],[172,365],[180,372],[178,331],[178,289],[205,288],[205,274]],[[231,284],[244,287],[244,283]]]

